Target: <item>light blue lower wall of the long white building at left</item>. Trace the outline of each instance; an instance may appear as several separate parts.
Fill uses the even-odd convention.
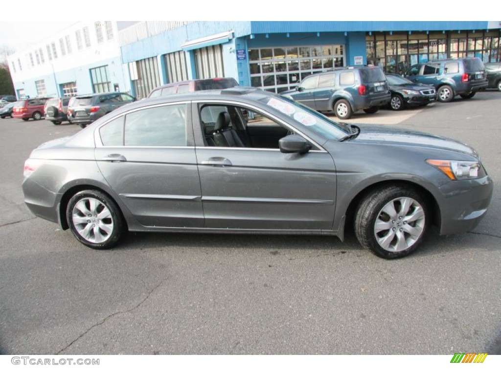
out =
[[[37,87],[35,81],[39,80],[45,81],[45,88],[48,96],[62,96],[63,92],[61,85],[69,82],[77,83],[78,94],[93,93],[90,69],[104,65],[108,66],[108,74],[110,76],[109,79],[111,80],[111,84],[118,84],[120,90],[125,90],[126,77],[122,70],[120,58],[116,57],[114,59],[108,59],[93,63],[92,65],[85,65],[77,69],[69,69],[65,71],[45,74],[36,78],[31,78],[30,80],[27,80],[25,82],[14,82],[16,94],[19,93],[20,89],[24,89],[25,95],[29,95],[30,98],[36,97]]]

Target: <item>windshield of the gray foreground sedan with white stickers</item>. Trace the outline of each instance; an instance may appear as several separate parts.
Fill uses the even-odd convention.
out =
[[[329,140],[339,140],[350,134],[348,125],[331,120],[320,112],[291,99],[267,97],[261,101]]]

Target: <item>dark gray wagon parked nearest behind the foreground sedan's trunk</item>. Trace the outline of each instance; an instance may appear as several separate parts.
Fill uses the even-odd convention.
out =
[[[85,128],[111,111],[136,99],[127,93],[110,92],[77,95],[68,104],[68,119]]]

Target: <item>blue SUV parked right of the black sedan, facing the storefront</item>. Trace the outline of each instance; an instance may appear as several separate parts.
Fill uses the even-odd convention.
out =
[[[450,102],[456,95],[470,99],[487,87],[485,67],[479,58],[432,60],[413,65],[404,76],[412,82],[432,85],[440,102]]]

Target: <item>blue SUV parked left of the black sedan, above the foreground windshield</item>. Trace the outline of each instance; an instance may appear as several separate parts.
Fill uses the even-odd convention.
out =
[[[317,111],[334,111],[339,119],[354,112],[375,113],[391,99],[386,77],[379,67],[334,68],[303,79],[296,90],[280,93]]]

